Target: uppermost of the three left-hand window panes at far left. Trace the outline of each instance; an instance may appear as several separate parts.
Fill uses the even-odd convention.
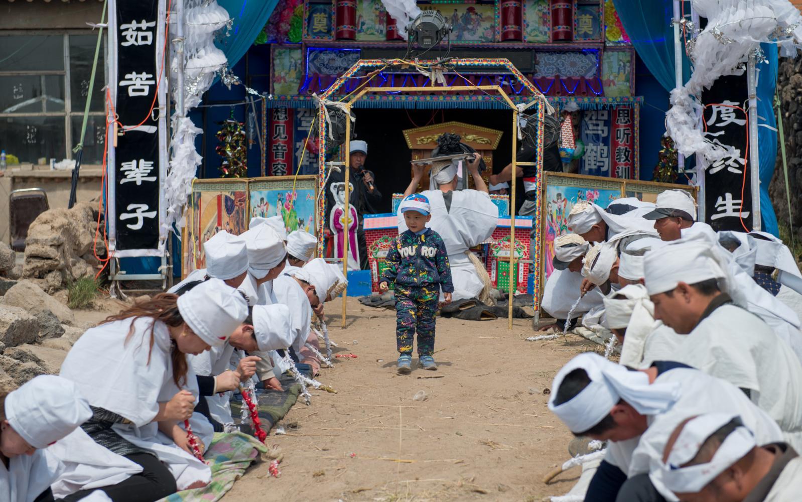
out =
[[[0,36],[2,71],[64,70],[64,35]]]

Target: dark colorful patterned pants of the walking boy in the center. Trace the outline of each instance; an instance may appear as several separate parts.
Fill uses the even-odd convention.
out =
[[[435,352],[435,314],[439,285],[407,288],[395,285],[395,338],[401,354],[412,353],[415,331],[418,333],[418,355]]]

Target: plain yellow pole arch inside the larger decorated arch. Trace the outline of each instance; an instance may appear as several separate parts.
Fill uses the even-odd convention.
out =
[[[504,89],[500,86],[443,86],[443,87],[436,87],[438,91],[476,91],[477,89],[480,91],[496,91],[499,95],[504,99],[504,101],[509,105],[512,109],[512,180],[511,180],[511,194],[510,194],[510,204],[509,204],[509,246],[510,246],[510,253],[509,253],[509,284],[508,284],[508,306],[507,306],[507,314],[508,314],[508,322],[507,328],[508,330],[512,330],[512,297],[515,293],[515,197],[516,197],[516,167],[518,165],[531,165],[533,163],[529,162],[522,162],[518,163],[516,160],[516,155],[518,152],[518,114],[519,111],[515,106],[515,103],[512,103],[512,99],[509,98]],[[350,111],[351,107],[354,106],[354,103],[366,95],[368,92],[395,92],[395,91],[419,91],[420,87],[363,87],[357,94],[350,97],[348,102],[346,103],[346,110],[349,115],[346,118],[346,142],[345,142],[345,169],[346,169],[346,192],[345,192],[345,200],[346,200],[346,221],[345,221],[345,228],[348,229],[349,219],[350,219]],[[541,132],[538,132],[541,134]],[[348,277],[348,239],[344,239],[344,243],[342,245],[342,274]],[[344,330],[346,328],[346,314],[347,314],[347,298],[348,298],[348,286],[346,285],[346,289],[342,291],[342,320],[340,328]]]

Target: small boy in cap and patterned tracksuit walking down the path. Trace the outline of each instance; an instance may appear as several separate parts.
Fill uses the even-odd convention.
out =
[[[387,269],[382,273],[379,290],[383,293],[395,282],[396,341],[398,342],[398,372],[412,370],[412,344],[418,333],[420,367],[436,370],[435,314],[439,290],[443,289],[445,303],[451,303],[454,285],[448,253],[443,238],[426,228],[431,220],[431,207],[426,196],[413,193],[401,201],[400,207],[407,231],[395,238],[387,253]]]

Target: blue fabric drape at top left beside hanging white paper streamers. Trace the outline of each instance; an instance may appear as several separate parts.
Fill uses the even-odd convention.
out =
[[[233,68],[265,27],[278,0],[217,0],[217,3],[234,20],[231,34],[217,41],[217,47],[229,59],[229,68]]]

